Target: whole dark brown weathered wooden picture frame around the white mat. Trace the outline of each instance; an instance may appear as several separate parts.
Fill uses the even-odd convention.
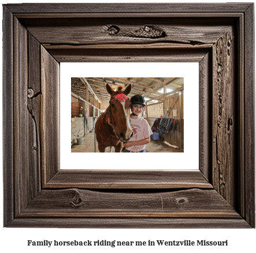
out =
[[[95,61],[199,62],[200,170],[60,170],[60,62]],[[4,226],[255,228],[254,130],[253,3],[3,5]]]

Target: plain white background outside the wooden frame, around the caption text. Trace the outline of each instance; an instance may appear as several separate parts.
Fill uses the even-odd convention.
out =
[[[29,1],[26,1],[29,2]],[[36,1],[30,1],[36,2]],[[66,2],[64,0],[54,2]],[[76,1],[81,2],[81,1]],[[85,1],[83,1],[85,2]],[[95,1],[90,1],[95,2]],[[113,2],[113,1],[108,1]],[[121,1],[117,1],[121,2]],[[129,1],[126,1],[129,2]],[[135,2],[135,1],[130,1]],[[157,2],[150,0],[140,0],[139,2]],[[161,2],[172,2],[164,1]],[[173,1],[173,2],[206,2],[205,1]],[[213,1],[210,2],[225,2]],[[2,3],[18,3],[17,1],[5,1]],[[2,12],[1,12],[2,15]],[[2,41],[0,40],[0,43]],[[1,61],[2,62],[2,61]],[[0,69],[2,72],[2,68]],[[69,83],[70,85],[70,83]],[[2,92],[2,89],[0,89]],[[2,99],[2,94],[0,94]],[[0,109],[2,113],[2,101],[0,101]],[[2,114],[1,114],[2,115]],[[2,121],[0,122],[2,129]],[[2,134],[0,135],[2,141]],[[2,152],[0,152],[2,164]],[[0,173],[0,189],[2,191],[2,173]],[[3,206],[2,194],[0,194],[0,204]],[[2,226],[2,208],[0,213],[0,227]],[[255,251],[255,229],[37,229],[37,228],[0,228],[0,250],[1,252],[254,252]],[[226,240],[228,239],[228,247],[27,247],[27,240]]]

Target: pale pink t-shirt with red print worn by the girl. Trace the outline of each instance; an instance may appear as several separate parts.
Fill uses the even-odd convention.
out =
[[[130,120],[131,120],[131,128],[133,131],[133,136],[129,141],[135,142],[136,140],[143,140],[153,134],[149,123],[146,120],[144,120],[144,118],[140,117],[136,120],[134,120],[133,118],[130,118]],[[139,145],[139,146],[128,147],[126,149],[132,152],[139,152],[144,150],[145,148],[146,148],[146,145]]]

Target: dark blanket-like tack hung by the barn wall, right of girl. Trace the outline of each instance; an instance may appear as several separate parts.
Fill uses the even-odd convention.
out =
[[[152,132],[159,132],[163,135],[166,132],[174,131],[177,129],[176,118],[157,118],[151,127]]]

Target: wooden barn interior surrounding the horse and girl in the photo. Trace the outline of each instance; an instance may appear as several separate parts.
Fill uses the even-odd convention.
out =
[[[109,106],[110,95],[105,85],[113,90],[118,86],[128,95],[145,98],[141,115],[153,135],[146,152],[184,152],[184,78],[182,77],[72,77],[71,79],[71,151],[99,152],[95,140],[95,124]],[[106,152],[114,152],[106,148]]]

